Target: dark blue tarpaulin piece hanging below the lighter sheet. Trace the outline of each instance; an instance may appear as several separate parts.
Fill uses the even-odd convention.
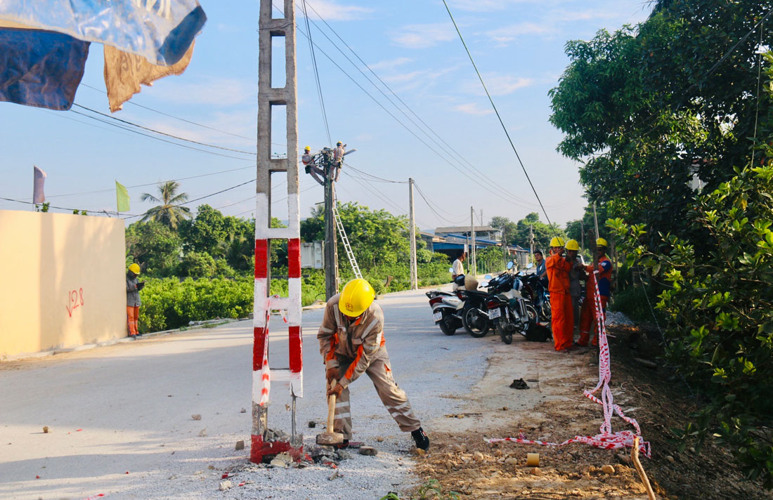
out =
[[[0,29],[0,100],[68,110],[89,43],[62,33]]]

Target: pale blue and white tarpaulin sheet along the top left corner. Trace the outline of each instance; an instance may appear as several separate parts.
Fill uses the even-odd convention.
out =
[[[104,43],[171,66],[206,15],[196,0],[2,0],[0,20]]]

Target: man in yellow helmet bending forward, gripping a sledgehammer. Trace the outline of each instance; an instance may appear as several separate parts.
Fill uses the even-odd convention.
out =
[[[429,437],[414,415],[405,391],[397,386],[392,377],[383,336],[384,315],[380,305],[373,301],[375,297],[373,287],[366,280],[356,278],[349,281],[340,294],[330,298],[325,306],[325,317],[322,318],[317,339],[319,352],[325,361],[328,396],[335,394],[332,430],[343,434],[344,442],[339,447],[349,445],[352,438],[349,384],[366,373],[400,430],[410,432],[416,447],[426,451],[430,446]]]

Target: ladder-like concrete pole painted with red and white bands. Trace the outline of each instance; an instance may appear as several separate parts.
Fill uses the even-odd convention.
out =
[[[250,461],[286,451],[294,457],[303,452],[303,436],[296,434],[295,398],[303,396],[303,350],[301,349],[301,238],[298,197],[298,94],[295,80],[295,2],[284,0],[284,18],[272,19],[271,0],[261,0],[258,29],[257,189],[255,207],[255,300],[252,379],[252,441]],[[284,38],[285,84],[271,87],[271,40]],[[274,108],[287,113],[287,129],[271,137]],[[283,139],[287,158],[271,158],[271,142]],[[288,227],[271,227],[271,174],[287,176]],[[288,297],[269,298],[271,291],[271,240],[288,241]],[[268,369],[268,318],[271,310],[287,311],[289,368]],[[291,438],[277,440],[268,429],[271,383],[288,383],[292,396]],[[286,435],[286,434],[285,434]]]

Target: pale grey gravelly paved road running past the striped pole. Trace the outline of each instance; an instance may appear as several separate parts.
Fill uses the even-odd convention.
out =
[[[493,338],[471,338],[461,329],[453,337],[442,335],[422,291],[390,294],[380,304],[395,379],[431,434],[432,421],[458,410],[461,396],[482,378]],[[311,444],[318,429],[306,423],[326,415],[315,339],[322,310],[306,311],[303,318],[305,397],[298,402],[298,423]],[[282,325],[280,318],[272,319],[274,367],[287,366]],[[237,478],[254,484],[216,491],[220,474],[245,464],[249,455],[249,449],[234,451],[233,445],[244,439],[249,447],[251,346],[251,322],[239,321],[0,363],[0,498],[77,500],[102,493],[107,498],[353,500],[379,498],[412,480],[410,436],[400,433],[363,376],[352,385],[356,439],[379,447],[378,457],[357,455],[342,462],[343,478],[332,482],[325,481],[330,470],[318,465],[254,468]],[[271,395],[270,427],[289,431],[289,397],[277,387]],[[247,413],[240,413],[242,408]],[[193,413],[202,414],[202,420],[192,420]],[[43,434],[43,426],[52,432]]]

